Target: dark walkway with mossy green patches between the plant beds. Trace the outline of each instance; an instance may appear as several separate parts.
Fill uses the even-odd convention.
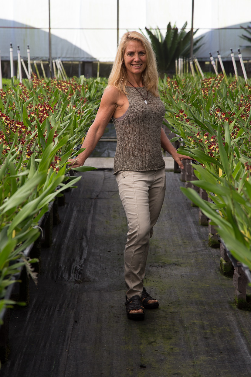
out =
[[[167,172],[145,286],[160,308],[133,322],[125,312],[127,225],[112,171],[83,174],[66,194],[28,308],[11,312],[1,377],[248,377],[250,312],[232,303],[198,208]]]

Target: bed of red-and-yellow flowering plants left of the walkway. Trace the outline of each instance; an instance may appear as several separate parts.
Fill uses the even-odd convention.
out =
[[[4,297],[15,274],[33,262],[23,251],[38,238],[49,202],[81,178],[67,176],[67,160],[82,151],[75,152],[76,146],[96,115],[105,84],[83,76],[68,81],[34,76],[23,84],[12,80],[0,91],[0,313],[14,303]]]

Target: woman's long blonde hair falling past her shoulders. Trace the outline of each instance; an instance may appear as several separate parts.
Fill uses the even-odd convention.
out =
[[[142,72],[143,83],[146,90],[151,92],[155,97],[159,97],[158,93],[158,70],[157,62],[151,43],[143,34],[137,31],[129,31],[123,34],[119,43],[118,51],[113,63],[110,76],[108,78],[108,86],[116,87],[121,93],[126,92],[126,85],[128,83],[128,76],[124,64],[125,49],[129,41],[140,42],[146,50],[146,68]]]

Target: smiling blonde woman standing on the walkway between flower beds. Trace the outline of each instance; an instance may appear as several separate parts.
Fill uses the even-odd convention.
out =
[[[85,137],[75,167],[84,165],[110,119],[117,133],[114,174],[128,220],[125,246],[126,313],[144,319],[144,309],[159,306],[143,287],[149,238],[166,189],[161,147],[184,168],[162,129],[165,107],[158,94],[157,64],[149,41],[133,31],[123,35],[94,123]]]

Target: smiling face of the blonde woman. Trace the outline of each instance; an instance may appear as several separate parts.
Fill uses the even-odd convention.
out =
[[[146,50],[139,41],[129,41],[124,53],[127,73],[141,74],[146,68]]]

